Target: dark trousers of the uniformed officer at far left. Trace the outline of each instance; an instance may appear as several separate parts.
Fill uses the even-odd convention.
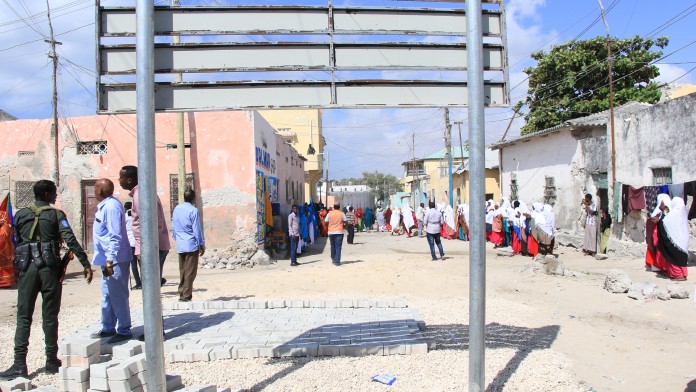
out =
[[[39,293],[43,299],[41,317],[46,343],[46,358],[57,358],[58,312],[60,312],[60,300],[63,294],[63,284],[60,282],[62,272],[57,268],[43,267],[38,269],[32,262],[26,272],[19,274],[15,362],[26,361],[32,315]]]

